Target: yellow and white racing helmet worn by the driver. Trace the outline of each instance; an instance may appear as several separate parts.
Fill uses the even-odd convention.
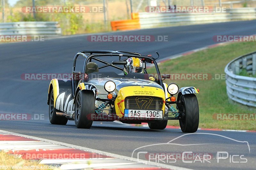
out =
[[[127,64],[124,65],[124,75],[127,75],[129,72],[132,72],[132,73],[143,72],[143,63],[140,59],[131,57],[126,61],[127,61]]]

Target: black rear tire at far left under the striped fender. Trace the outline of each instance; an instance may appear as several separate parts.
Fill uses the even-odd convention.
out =
[[[50,102],[49,102],[49,120],[51,124],[65,125],[68,122],[68,119],[66,117],[60,117],[56,115],[56,109],[54,107],[53,90],[51,91]]]

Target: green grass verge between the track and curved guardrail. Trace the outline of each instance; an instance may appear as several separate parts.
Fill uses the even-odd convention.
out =
[[[162,74],[172,73],[208,73],[224,74],[224,68],[232,59],[256,50],[256,43],[232,43],[212,49],[199,51],[184,57],[159,64]],[[200,90],[197,94],[200,111],[200,128],[219,128],[236,130],[256,130],[255,120],[214,120],[214,113],[256,113],[255,108],[230,102],[224,80],[166,80],[175,82],[179,87],[194,86]],[[179,121],[169,121],[169,125],[179,126]]]

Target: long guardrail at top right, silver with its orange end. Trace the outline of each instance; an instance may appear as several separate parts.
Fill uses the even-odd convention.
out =
[[[153,28],[164,25],[216,23],[256,19],[256,8],[235,8],[225,13],[132,13],[132,19],[111,21],[112,30]]]

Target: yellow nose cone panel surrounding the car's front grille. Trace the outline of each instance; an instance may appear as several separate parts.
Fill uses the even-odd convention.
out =
[[[116,115],[120,118],[124,117],[124,99],[129,96],[154,96],[163,99],[163,112],[165,111],[165,94],[164,90],[156,87],[141,87],[141,86],[129,86],[123,87],[119,90],[116,100],[115,109]]]

